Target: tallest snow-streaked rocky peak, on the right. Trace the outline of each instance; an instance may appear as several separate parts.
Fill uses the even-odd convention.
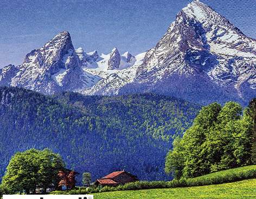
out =
[[[256,40],[200,1],[182,9],[149,50],[127,92],[157,92],[207,104],[256,95]]]

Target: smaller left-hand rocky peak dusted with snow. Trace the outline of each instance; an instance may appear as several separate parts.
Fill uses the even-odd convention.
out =
[[[82,70],[82,62],[67,31],[60,32],[42,48],[31,51],[21,65],[9,68],[1,70],[1,85],[44,94],[91,87],[100,79]]]

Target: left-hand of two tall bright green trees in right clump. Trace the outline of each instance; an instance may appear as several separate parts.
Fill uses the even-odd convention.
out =
[[[221,105],[217,103],[203,107],[196,116],[193,125],[185,131],[183,136],[184,177],[196,177],[210,172],[210,158],[206,143],[220,111]]]

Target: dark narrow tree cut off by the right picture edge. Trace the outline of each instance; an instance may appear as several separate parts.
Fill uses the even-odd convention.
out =
[[[256,98],[253,98],[251,102],[249,102],[246,113],[253,121],[251,161],[253,164],[256,164]]]

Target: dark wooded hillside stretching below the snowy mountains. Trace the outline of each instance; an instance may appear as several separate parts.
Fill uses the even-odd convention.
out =
[[[44,96],[0,88],[0,175],[17,151],[49,148],[92,180],[125,169],[140,180],[167,180],[172,136],[189,128],[200,106],[153,94]]]

